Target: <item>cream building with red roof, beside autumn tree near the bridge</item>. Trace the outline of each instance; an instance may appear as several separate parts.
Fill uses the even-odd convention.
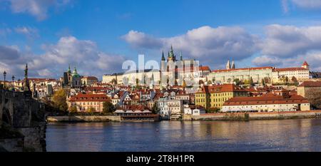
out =
[[[93,112],[103,112],[103,103],[111,102],[111,98],[107,95],[101,94],[83,94],[78,93],[71,98],[68,98],[67,105],[69,110],[72,107],[76,107],[77,112],[88,112],[88,110],[93,110]]]

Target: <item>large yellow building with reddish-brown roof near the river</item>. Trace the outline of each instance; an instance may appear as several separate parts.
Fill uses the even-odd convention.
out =
[[[248,96],[248,91],[234,84],[203,86],[195,93],[195,105],[204,108],[222,108],[233,97]]]

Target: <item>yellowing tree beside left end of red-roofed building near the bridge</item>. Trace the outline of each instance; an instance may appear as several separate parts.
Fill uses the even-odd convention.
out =
[[[54,102],[54,108],[66,112],[68,110],[68,105],[66,103],[66,93],[62,88],[56,91],[52,97]]]

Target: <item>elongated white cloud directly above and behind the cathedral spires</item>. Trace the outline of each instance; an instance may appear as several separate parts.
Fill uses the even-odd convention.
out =
[[[212,28],[202,26],[180,36],[156,38],[139,31],[129,31],[122,37],[135,48],[168,50],[171,45],[184,56],[221,63],[227,58],[235,60],[251,56],[257,51],[259,38],[240,27]]]

